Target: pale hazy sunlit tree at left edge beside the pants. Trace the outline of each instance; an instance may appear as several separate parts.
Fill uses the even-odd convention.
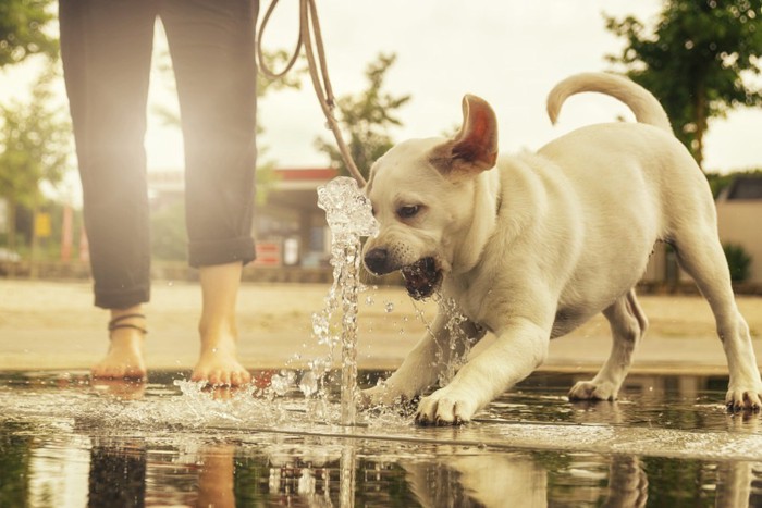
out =
[[[15,248],[16,207],[36,208],[40,184],[57,184],[67,166],[71,126],[61,111],[50,109],[54,76],[52,66],[42,73],[29,103],[0,106],[0,197],[8,202],[11,249]]]

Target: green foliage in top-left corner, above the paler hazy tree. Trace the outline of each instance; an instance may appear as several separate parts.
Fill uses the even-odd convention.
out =
[[[0,1],[0,67],[19,63],[30,54],[58,54],[58,40],[46,25],[56,18],[53,0]]]

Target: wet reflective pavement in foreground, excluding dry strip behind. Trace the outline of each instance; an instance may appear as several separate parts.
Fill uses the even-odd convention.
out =
[[[572,404],[582,373],[541,372],[459,428],[404,408],[339,425],[337,386],[305,398],[86,371],[0,373],[0,506],[760,506],[760,414],[722,375],[630,375]],[[362,371],[364,385],[381,373]],[[258,387],[257,387],[258,386]]]

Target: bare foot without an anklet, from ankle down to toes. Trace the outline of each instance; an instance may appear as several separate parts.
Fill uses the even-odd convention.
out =
[[[241,386],[251,374],[236,358],[235,338],[230,335],[201,337],[201,355],[190,381],[206,381],[212,386]]]

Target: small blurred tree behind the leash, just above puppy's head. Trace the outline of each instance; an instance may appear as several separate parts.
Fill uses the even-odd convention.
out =
[[[357,96],[348,95],[336,100],[337,121],[345,135],[348,135],[349,153],[365,176],[368,175],[373,161],[392,148],[389,128],[402,125],[394,113],[410,100],[409,95],[394,97],[382,91],[386,71],[395,60],[395,54],[379,54],[365,72],[368,88]],[[349,174],[333,143],[319,138],[316,140],[316,147],[331,158],[332,164],[339,168],[341,174]]]

